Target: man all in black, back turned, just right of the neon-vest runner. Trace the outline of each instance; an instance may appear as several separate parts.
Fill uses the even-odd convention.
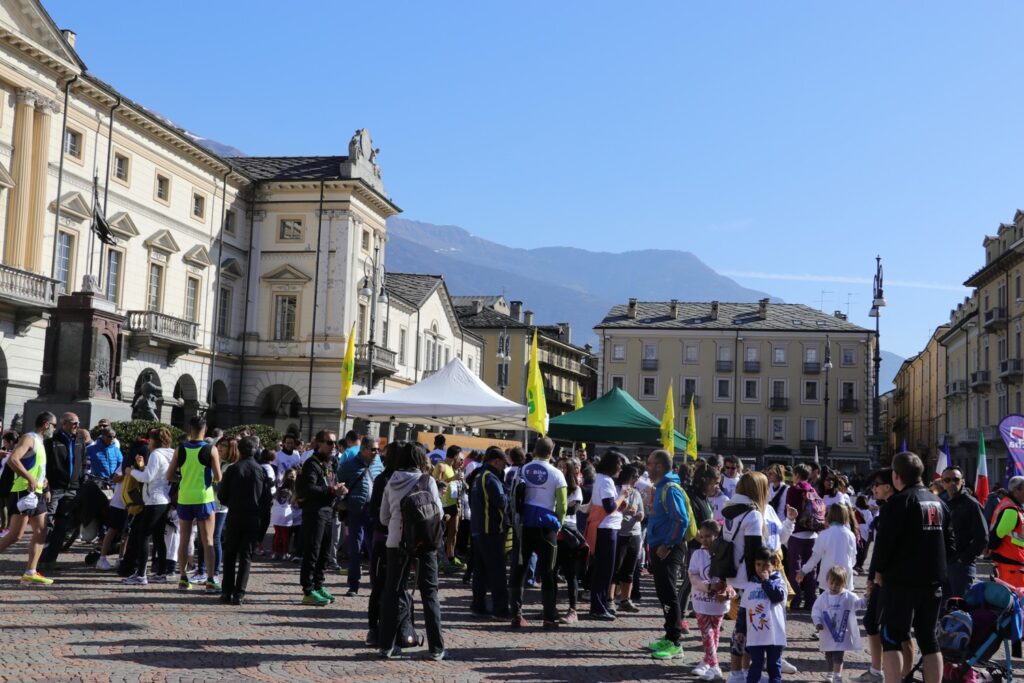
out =
[[[241,605],[249,584],[249,568],[254,544],[263,530],[260,524],[260,504],[263,493],[272,485],[270,477],[253,455],[259,451],[259,439],[246,436],[239,440],[239,462],[224,470],[217,487],[217,498],[227,507],[224,522],[224,578],[220,601]]]

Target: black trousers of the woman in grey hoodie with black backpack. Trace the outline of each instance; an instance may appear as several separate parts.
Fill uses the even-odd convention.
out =
[[[381,596],[380,615],[380,646],[382,650],[390,650],[395,645],[402,645],[397,636],[407,622],[411,622],[412,599],[402,600],[406,582],[412,561],[419,562],[418,586],[420,600],[423,603],[423,622],[427,631],[427,644],[431,652],[444,649],[444,639],[441,637],[441,604],[437,599],[437,551],[429,550],[417,555],[410,555],[401,548],[387,549],[387,580],[384,594]],[[407,641],[408,642],[408,641]]]

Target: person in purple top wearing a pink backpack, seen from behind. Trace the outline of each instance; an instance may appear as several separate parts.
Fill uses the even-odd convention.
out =
[[[786,544],[786,578],[793,586],[793,603],[791,611],[804,609],[810,611],[818,597],[817,570],[804,575],[803,582],[797,581],[797,573],[811,559],[814,552],[814,540],[825,524],[825,506],[818,492],[811,485],[811,470],[807,465],[800,464],[793,468],[793,485],[785,495],[787,507],[797,510],[797,525]]]

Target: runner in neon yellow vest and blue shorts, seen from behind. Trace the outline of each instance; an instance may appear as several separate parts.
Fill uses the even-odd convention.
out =
[[[178,477],[178,568],[181,578],[178,588],[187,591],[193,584],[188,579],[188,550],[193,524],[199,526],[199,538],[203,544],[207,569],[206,590],[220,593],[220,584],[213,575],[213,529],[216,522],[213,503],[213,484],[220,481],[220,457],[206,438],[206,420],[195,417],[188,421],[188,439],[178,446],[167,469],[167,479],[174,482]]]

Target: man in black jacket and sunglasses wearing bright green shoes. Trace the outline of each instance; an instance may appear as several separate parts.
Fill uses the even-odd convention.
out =
[[[331,525],[336,514],[334,503],[348,489],[345,484],[335,482],[337,434],[321,431],[316,434],[316,453],[302,465],[296,492],[302,506],[302,568],[299,571],[302,604],[322,606],[334,602],[334,596],[324,587],[324,570],[331,550]]]

